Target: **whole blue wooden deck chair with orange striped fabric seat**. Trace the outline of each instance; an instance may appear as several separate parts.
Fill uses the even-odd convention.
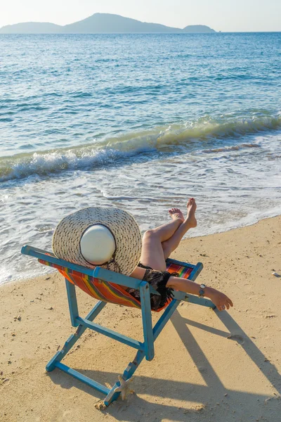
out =
[[[173,290],[174,299],[167,300],[164,308],[157,309],[157,312],[160,312],[163,309],[164,312],[158,319],[155,326],[152,327],[150,293],[159,293],[157,293],[157,291],[154,290],[146,281],[133,279],[132,277],[124,276],[102,267],[96,267],[95,269],[81,267],[77,264],[72,264],[71,262],[58,259],[51,252],[32,248],[32,246],[29,245],[23,246],[21,252],[22,254],[36,257],[41,264],[58,269],[58,271],[63,274],[65,277],[67,299],[70,308],[71,324],[73,327],[77,327],[75,333],[70,335],[70,337],[66,340],[62,350],[55,353],[54,357],[50,360],[50,362],[48,362],[46,365],[46,371],[53,371],[53,369],[58,368],[74,378],[77,378],[79,381],[90,385],[99,392],[102,392],[105,395],[105,399],[103,401],[105,406],[108,406],[111,402],[115,401],[121,393],[122,398],[124,397],[127,385],[144,357],[148,361],[153,359],[155,355],[155,340],[171,318],[172,314],[174,314],[181,300],[205,307],[211,307],[213,309],[215,308],[215,305],[211,302],[211,300]],[[171,273],[177,272],[181,277],[192,281],[195,281],[203,268],[201,262],[198,262],[196,265],[192,265],[171,259],[166,260],[166,265],[167,271]],[[93,298],[98,299],[96,305],[85,318],[79,316],[75,292],[76,287],[81,288],[81,290],[84,290],[84,292],[91,295]],[[125,288],[128,287],[140,290],[140,302],[126,292]],[[93,322],[107,302],[140,309],[143,322],[143,342],[134,340],[133,338],[129,338],[126,335],[117,333],[116,331],[112,331],[109,328],[100,326],[99,324]],[[107,388],[105,385],[93,381],[91,378],[79,373],[79,371],[75,371],[69,366],[61,363],[63,357],[65,357],[67,352],[69,352],[74,346],[86,328],[97,331],[100,334],[107,335],[107,337],[138,350],[133,362],[129,362],[122,377],[119,377],[119,381],[117,381],[112,388]]]

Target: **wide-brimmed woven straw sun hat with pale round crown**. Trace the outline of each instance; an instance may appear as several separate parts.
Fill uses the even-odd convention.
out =
[[[59,222],[53,252],[83,267],[105,267],[129,276],[141,257],[141,231],[129,212],[84,208]]]

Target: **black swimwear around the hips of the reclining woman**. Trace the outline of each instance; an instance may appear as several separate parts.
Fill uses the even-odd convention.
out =
[[[177,276],[178,273],[169,273],[168,271],[157,271],[151,267],[147,267],[141,262],[138,264],[138,267],[145,268],[145,275],[143,276],[143,281],[148,281],[155,290],[157,290],[160,295],[150,294],[150,305],[151,309],[157,311],[157,309],[162,308],[166,305],[166,301],[169,298],[173,298],[173,293],[171,288],[166,287],[166,283],[171,276]],[[141,302],[140,290],[129,288],[128,293],[130,293],[133,298],[136,298]]]

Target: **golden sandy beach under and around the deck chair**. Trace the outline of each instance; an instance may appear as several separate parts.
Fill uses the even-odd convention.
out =
[[[281,421],[281,217],[181,243],[179,260],[201,261],[199,281],[233,300],[230,312],[183,303],[141,364],[136,394],[105,411],[103,395],[45,365],[74,331],[63,277],[1,286],[0,419],[15,421]],[[25,259],[25,257],[22,257]],[[81,314],[94,301],[79,292]],[[159,316],[153,314],[156,320]],[[141,339],[140,312],[107,305],[98,322]],[[64,360],[112,385],[130,347],[86,331]]]

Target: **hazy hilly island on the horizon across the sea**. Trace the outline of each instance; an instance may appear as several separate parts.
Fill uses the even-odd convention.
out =
[[[54,23],[26,22],[6,25],[0,28],[0,34],[110,34],[110,33],[183,33],[216,32],[205,25],[188,25],[181,28],[167,27],[159,23],[146,23],[140,20],[124,18],[111,13],[95,13],[89,18],[69,25]]]

